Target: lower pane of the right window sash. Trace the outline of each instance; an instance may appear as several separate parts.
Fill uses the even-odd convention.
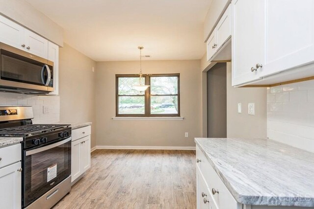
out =
[[[178,96],[151,96],[151,114],[178,114]]]

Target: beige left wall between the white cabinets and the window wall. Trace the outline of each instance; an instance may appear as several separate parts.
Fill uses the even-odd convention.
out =
[[[59,49],[60,121],[93,122],[91,147],[96,146],[95,72],[96,62],[64,44]]]

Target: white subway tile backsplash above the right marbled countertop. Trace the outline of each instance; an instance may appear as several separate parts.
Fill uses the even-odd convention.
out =
[[[314,80],[270,88],[267,137],[314,152]]]

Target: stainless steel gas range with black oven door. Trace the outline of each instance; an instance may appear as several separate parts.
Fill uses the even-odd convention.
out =
[[[32,118],[32,107],[0,107],[0,136],[24,138],[22,208],[50,209],[71,190],[71,127]]]

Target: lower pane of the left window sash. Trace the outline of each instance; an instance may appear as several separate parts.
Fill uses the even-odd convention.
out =
[[[118,114],[145,114],[145,96],[119,96]]]

